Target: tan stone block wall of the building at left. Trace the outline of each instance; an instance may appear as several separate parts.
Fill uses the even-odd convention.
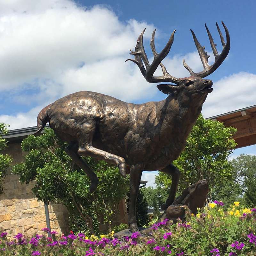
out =
[[[12,156],[12,164],[24,160],[20,142],[9,143],[5,153]],[[0,230],[6,231],[8,236],[17,233],[32,235],[46,227],[44,203],[37,202],[32,193],[34,184],[21,184],[18,175],[7,172],[4,193],[0,196]],[[63,205],[49,205],[49,215],[52,230],[62,233],[67,231],[68,211]],[[12,234],[9,235],[10,231]]]

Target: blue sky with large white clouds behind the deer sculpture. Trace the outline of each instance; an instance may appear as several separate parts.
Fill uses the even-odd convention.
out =
[[[0,122],[10,129],[36,126],[36,116],[49,103],[73,92],[95,91],[133,103],[166,98],[148,83],[132,62],[142,29],[149,61],[149,41],[156,28],[160,52],[176,29],[163,63],[175,77],[189,76],[182,60],[196,72],[203,69],[189,29],[212,58],[206,22],[217,49],[222,47],[215,22],[228,27],[231,49],[213,81],[202,113],[211,117],[256,105],[255,1],[71,1],[0,0]],[[156,70],[160,74],[160,70]],[[256,146],[237,149],[255,154]],[[142,179],[153,185],[154,173]]]

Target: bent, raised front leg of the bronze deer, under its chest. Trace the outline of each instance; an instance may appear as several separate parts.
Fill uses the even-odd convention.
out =
[[[175,195],[176,195],[177,188],[178,188],[178,183],[180,180],[180,170],[173,164],[170,164],[160,171],[172,176],[172,185],[171,185],[171,189],[170,189],[170,194],[166,200],[166,203],[162,205],[162,209],[166,210],[168,208],[168,206],[170,206],[175,199]]]

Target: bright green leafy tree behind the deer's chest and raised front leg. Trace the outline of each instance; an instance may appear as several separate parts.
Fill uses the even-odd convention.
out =
[[[198,180],[208,179],[210,187],[232,177],[232,165],[228,156],[235,148],[232,139],[234,127],[204,119],[202,115],[196,121],[188,136],[186,147],[180,157],[173,162],[180,169],[181,176],[178,193]],[[156,184],[162,189],[170,188],[171,178],[163,172],[156,176]]]

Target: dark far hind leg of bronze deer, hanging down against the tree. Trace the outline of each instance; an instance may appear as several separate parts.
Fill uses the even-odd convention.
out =
[[[91,180],[91,186],[90,186],[90,193],[94,192],[95,189],[98,186],[99,179],[97,175],[92,171],[90,166],[84,162],[81,156],[77,153],[78,150],[78,143],[70,143],[69,146],[65,149],[68,156],[71,157],[73,162],[77,164],[84,172],[87,174],[87,176]]]

